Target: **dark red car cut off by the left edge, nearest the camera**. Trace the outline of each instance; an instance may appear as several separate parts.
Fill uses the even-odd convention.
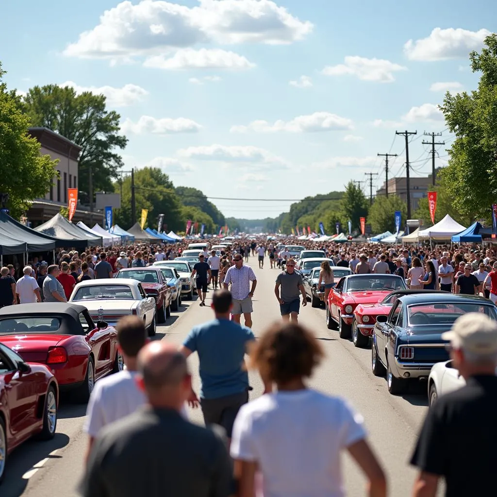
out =
[[[12,450],[33,435],[54,437],[58,404],[59,387],[50,370],[0,343],[0,483]]]

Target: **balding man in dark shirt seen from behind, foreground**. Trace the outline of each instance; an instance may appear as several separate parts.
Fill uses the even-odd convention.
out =
[[[221,428],[198,426],[180,414],[191,392],[184,355],[157,340],[140,350],[137,366],[148,406],[99,432],[80,486],[83,497],[232,495]]]

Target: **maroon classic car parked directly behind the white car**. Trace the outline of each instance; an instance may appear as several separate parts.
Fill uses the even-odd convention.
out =
[[[154,297],[156,301],[157,322],[166,322],[166,318],[171,315],[172,292],[167,286],[160,267],[126,267],[119,269],[115,278],[133,278],[138,280],[145,292],[147,292],[147,295]]]

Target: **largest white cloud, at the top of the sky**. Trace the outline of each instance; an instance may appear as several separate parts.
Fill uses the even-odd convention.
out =
[[[64,54],[79,58],[129,59],[198,43],[288,44],[305,38],[309,21],[271,0],[199,0],[187,7],[164,0],[122,1],[106,10],[93,29]]]

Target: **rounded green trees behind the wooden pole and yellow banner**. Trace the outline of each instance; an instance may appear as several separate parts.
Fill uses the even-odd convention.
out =
[[[121,183],[114,183],[116,193],[121,191]],[[115,222],[128,229],[131,227],[131,176],[123,178],[121,209],[115,214]],[[174,191],[172,181],[158,167],[144,167],[135,171],[135,203],[136,220],[140,220],[142,209],[148,209],[147,224],[157,228],[159,214],[165,214],[164,225],[167,230],[184,230],[185,213],[182,204]],[[193,221],[199,221],[194,219]],[[166,227],[164,228],[166,230]]]

